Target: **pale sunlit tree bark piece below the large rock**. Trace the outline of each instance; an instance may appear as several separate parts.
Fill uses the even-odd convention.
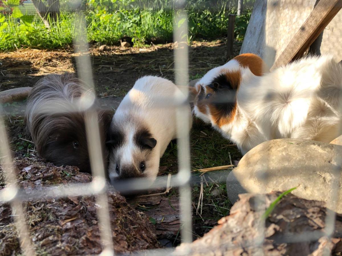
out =
[[[229,216],[223,217],[219,225],[211,229],[203,238],[191,244],[182,244],[173,255],[329,255],[341,251],[342,215],[336,215],[333,238],[324,237],[327,209],[324,202],[310,201],[289,194],[282,198],[265,221],[262,215],[269,205],[280,195],[280,192],[257,196],[241,194]],[[256,200],[261,199],[259,208]],[[265,228],[259,229],[259,225]],[[265,240],[258,247],[255,243]],[[293,238],[293,234],[304,231],[318,232],[321,237],[308,241],[285,241]],[[326,250],[326,251],[325,251]],[[326,253],[328,252],[328,253]],[[325,254],[324,254],[325,253]]]

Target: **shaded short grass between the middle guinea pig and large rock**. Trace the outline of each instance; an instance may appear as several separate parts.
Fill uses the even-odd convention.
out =
[[[230,159],[236,160],[240,158],[241,154],[238,149],[235,146],[227,146],[229,144],[231,143],[224,139],[219,132],[195,119],[192,131],[190,132],[191,168],[201,169],[229,165],[231,163]],[[167,167],[166,173],[176,174],[177,144],[170,143],[160,160],[160,165]],[[198,218],[195,221],[202,222],[202,220],[207,219],[217,221],[229,214],[232,204],[227,197],[225,179],[228,173],[229,170],[210,172],[210,177],[213,181],[205,175],[207,182],[203,182],[203,202],[201,203],[202,206],[200,206],[200,208],[202,207],[202,217],[197,215]],[[199,176],[201,173],[195,171],[192,174]],[[196,208],[200,192],[200,184],[197,183],[192,186],[192,201]],[[166,196],[174,195],[175,193],[177,193],[177,190],[174,189]]]

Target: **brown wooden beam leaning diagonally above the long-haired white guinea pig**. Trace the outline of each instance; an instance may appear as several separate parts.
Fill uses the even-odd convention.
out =
[[[285,50],[276,59],[271,70],[301,57],[341,7],[342,0],[320,0]]]

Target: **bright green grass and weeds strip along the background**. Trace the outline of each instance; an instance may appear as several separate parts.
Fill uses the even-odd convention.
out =
[[[209,10],[188,8],[188,42],[195,39],[215,39],[227,31],[227,11],[215,13]],[[93,8],[84,12],[87,23],[87,40],[90,43],[118,44],[120,39],[131,38],[136,45],[149,42],[171,42],[174,11],[168,9],[119,9]],[[237,18],[237,39],[242,40],[250,12]],[[50,20],[51,22],[51,20]],[[61,12],[51,28],[45,28],[38,16],[0,14],[0,50],[33,46],[38,48],[62,48],[77,38],[80,18],[76,13]]]

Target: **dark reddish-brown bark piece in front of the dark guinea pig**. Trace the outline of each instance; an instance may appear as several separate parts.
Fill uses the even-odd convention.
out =
[[[17,159],[18,186],[30,193],[68,182],[90,182],[91,175],[77,167],[56,167],[37,160]],[[0,170],[0,189],[4,187]],[[108,192],[108,206],[114,250],[127,254],[158,248],[154,226],[142,212],[127,204],[119,194]],[[23,203],[30,237],[38,255],[93,255],[101,253],[100,230],[94,196],[28,200]],[[20,253],[17,232],[9,204],[0,203],[0,254]]]

